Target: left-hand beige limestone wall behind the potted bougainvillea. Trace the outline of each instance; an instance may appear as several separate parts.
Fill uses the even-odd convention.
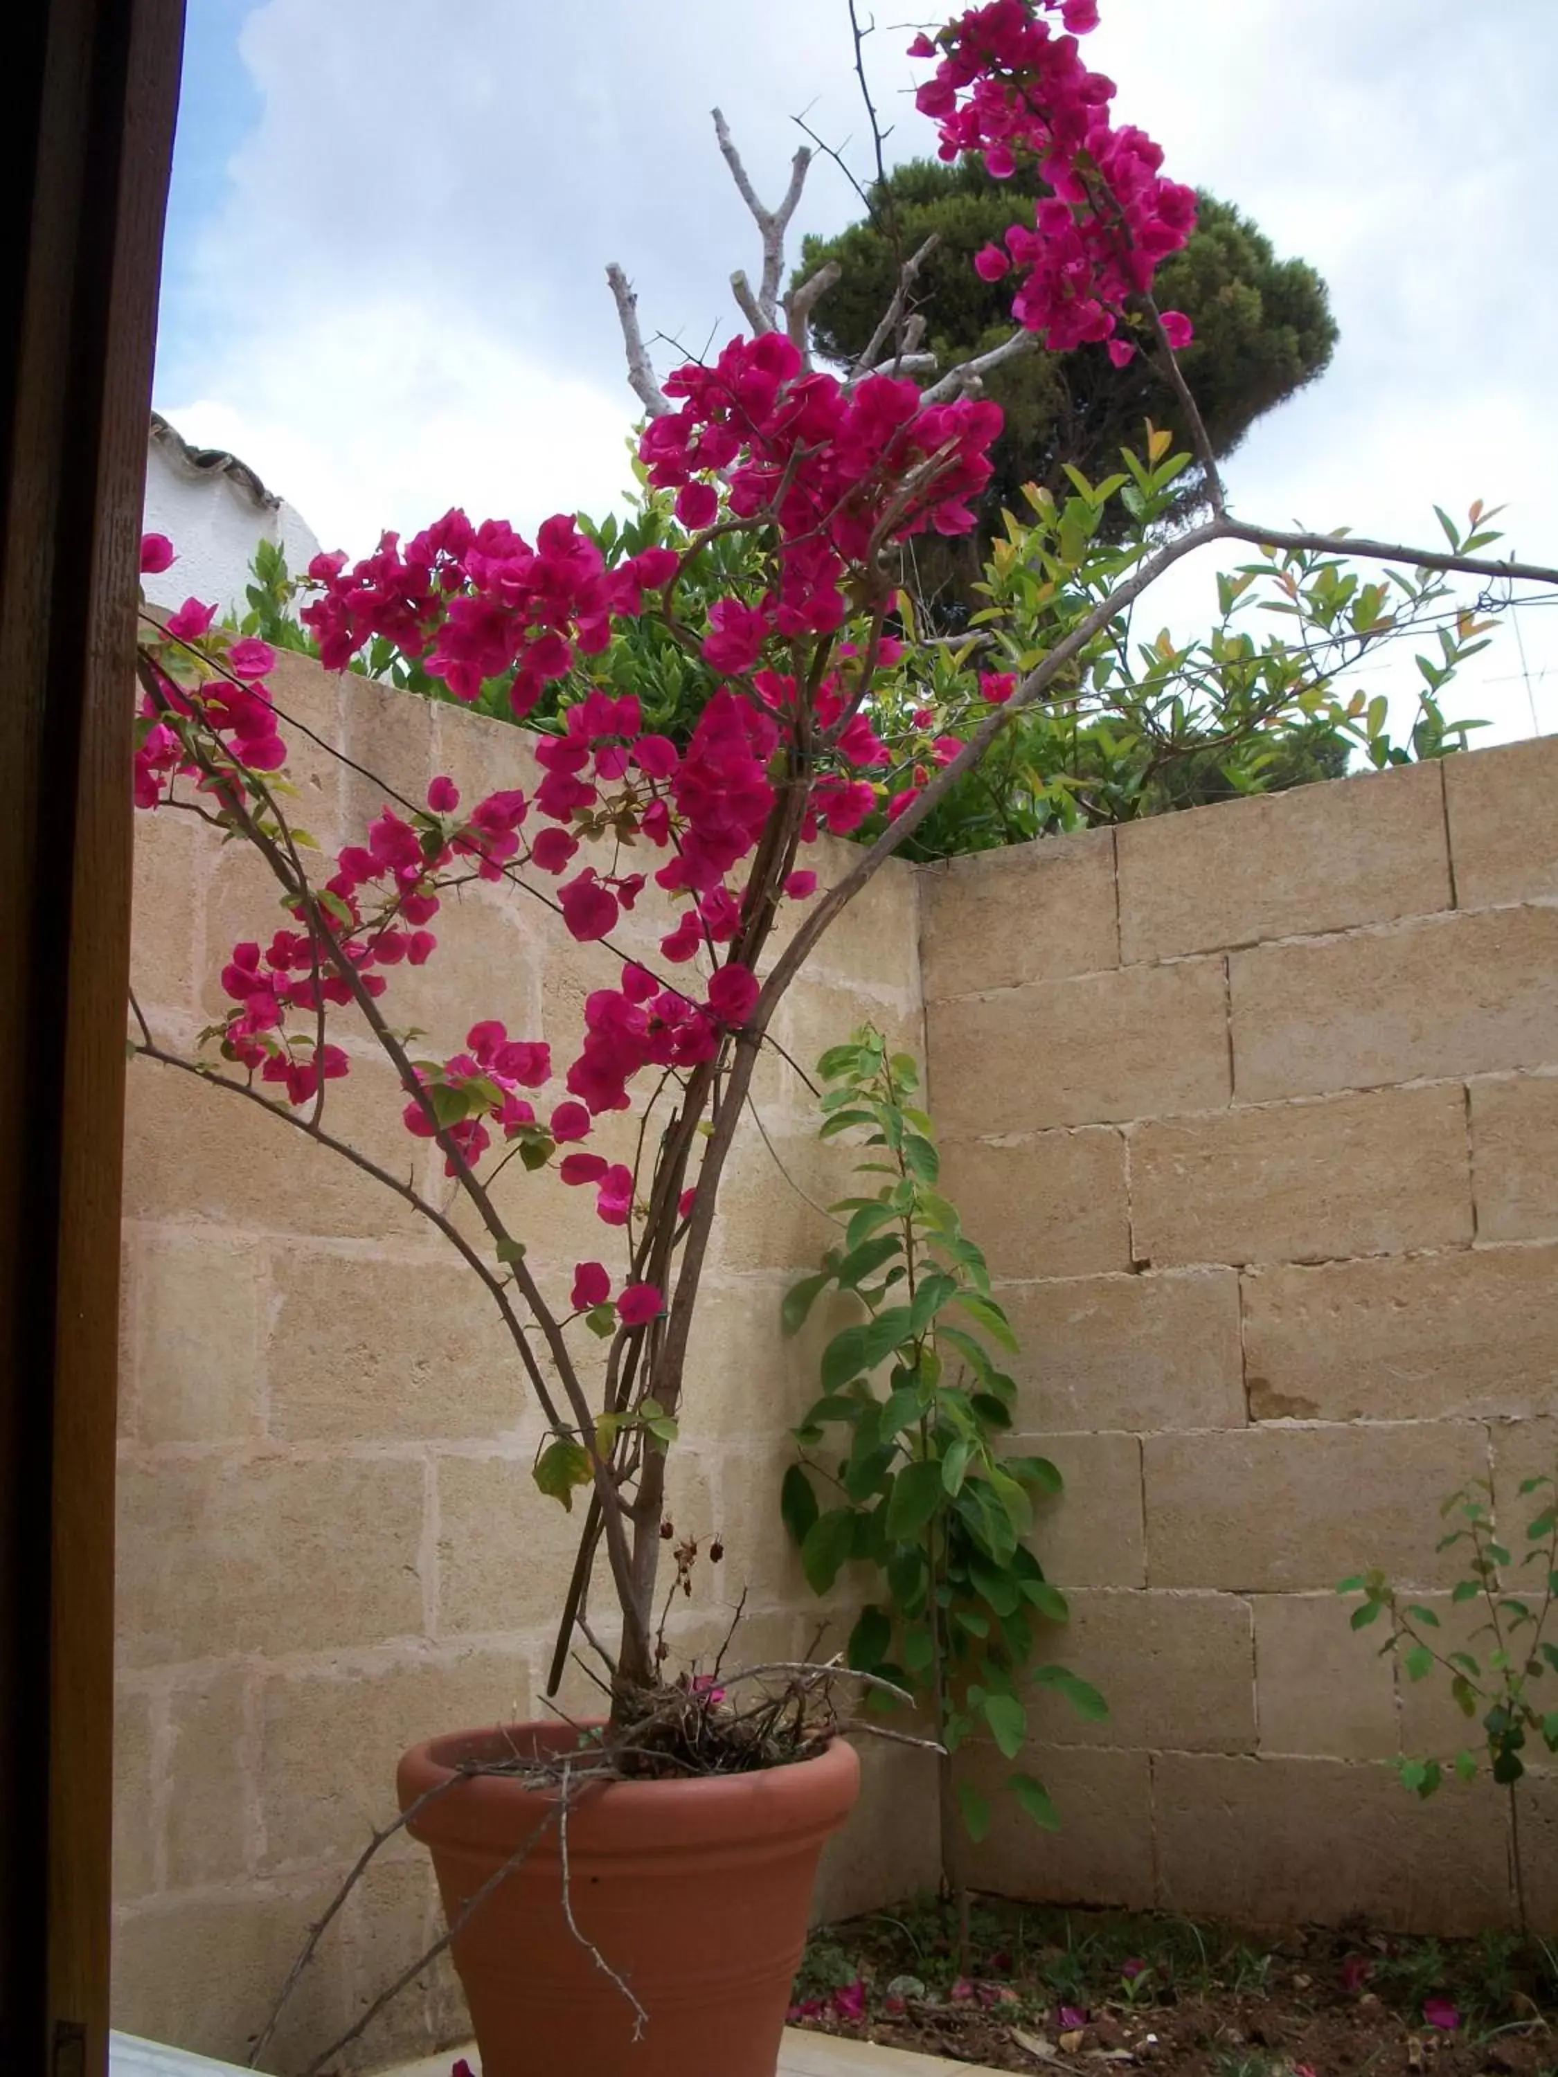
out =
[[[301,660],[274,683],[285,714],[409,798],[438,771],[472,791],[532,783],[515,729]],[[359,835],[382,791],[299,727],[285,733],[295,818],[320,843]],[[827,852],[825,870],[848,856]],[[220,1011],[229,947],[278,920],[274,887],[237,847],[187,816],[139,818],[133,970],[158,1034],[187,1041]],[[640,903],[625,939],[652,949],[667,926]],[[507,891],[467,893],[438,930],[436,957],[399,970],[384,1001],[442,1051],[482,1016],[567,1049],[584,993],[613,972],[600,947]],[[914,874],[889,870],[791,993],[785,1049],[810,1063],[872,1018],[922,1051],[916,937]],[[353,1072],[330,1086],[326,1122],[451,1196],[438,1157],[399,1124],[388,1070],[343,1043]],[[671,1498],[679,1531],[721,1531],[727,1547],[671,1635],[708,1645],[746,1587],[748,1662],[796,1655],[818,1620],[777,1510],[816,1346],[781,1344],[777,1306],[825,1244],[798,1188],[823,1203],[845,1188],[845,1157],[816,1144],[777,1055],[756,1107],[794,1182],[744,1128]],[[243,2060],[310,1919],[393,1807],[399,1751],[538,1709],[575,1520],[530,1481],[536,1412],[484,1292],[413,1211],[168,1068],[133,1066],[127,1132],[114,2023]],[[534,1205],[515,1225],[542,1275],[602,1252],[590,1192],[517,1163],[499,1188]],[[590,1709],[592,1691],[571,1676],[561,1699]],[[866,1761],[862,1811],[823,1884],[829,1913],[935,1873],[920,1755],[877,1745]],[[426,1857],[397,1842],[328,1936],[268,2065],[318,2052],[432,1925]],[[461,2029],[453,1979],[436,1973],[359,2054],[372,2067]]]

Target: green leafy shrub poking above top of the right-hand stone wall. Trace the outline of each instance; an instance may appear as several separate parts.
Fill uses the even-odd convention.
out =
[[[877,727],[902,746],[906,766],[989,719],[989,694],[970,698],[970,685],[1030,671],[1130,582],[1172,513],[1188,457],[1149,426],[1145,455],[1122,451],[1120,463],[1097,484],[1068,469],[1066,498],[1028,486],[1024,515],[1003,511],[964,636],[920,640],[920,609],[899,594],[912,648],[879,696]],[[1456,552],[1500,538],[1481,505],[1465,528],[1438,517]],[[1448,719],[1446,698],[1492,627],[1438,571],[1373,579],[1340,546],[1265,548],[1217,577],[1217,619],[1203,636],[1178,640],[1153,625],[1143,638],[1130,604],[1113,615],[1049,700],[1010,717],[904,856],[951,858],[1338,779],[1352,760],[1379,771],[1465,750],[1481,723]],[[1417,654],[1417,708],[1400,727],[1390,698],[1359,679],[1404,636],[1429,644]],[[935,741],[933,731],[914,741],[916,712],[937,717]],[[879,814],[862,835],[883,827]]]

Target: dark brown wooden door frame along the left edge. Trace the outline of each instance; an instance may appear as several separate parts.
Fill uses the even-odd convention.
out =
[[[183,0],[6,25],[0,2071],[108,2062],[131,656]]]

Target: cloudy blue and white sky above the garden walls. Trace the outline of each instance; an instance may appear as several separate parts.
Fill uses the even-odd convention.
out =
[[[914,12],[881,0],[868,42],[904,158],[935,150]],[[1558,563],[1554,0],[1103,0],[1093,52],[1174,177],[1332,287],[1336,361],[1234,457],[1238,511],[1427,544],[1483,496]],[[602,511],[636,409],[605,264],[690,351],[756,272],[715,104],[769,199],[798,114],[864,172],[845,0],[189,0],[158,409],[353,552],[449,505]],[[852,204],[818,160],[796,231]],[[1207,586],[1153,619],[1188,631]],[[1558,729],[1558,604],[1458,710]]]

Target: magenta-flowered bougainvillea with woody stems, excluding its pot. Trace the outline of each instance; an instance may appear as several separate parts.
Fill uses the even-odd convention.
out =
[[[1078,56],[1095,19],[1093,0],[970,10],[916,42],[935,60],[920,106],[941,129],[943,156],[983,152],[1014,183],[1005,245],[981,255],[985,272],[1012,268],[1016,278],[1016,328],[997,351],[1080,341],[1116,355],[1151,351],[1188,397],[1174,361],[1184,324],[1151,303],[1157,262],[1190,228],[1188,189],[1163,181],[1140,131],[1116,127],[1109,81]],[[652,1612],[665,1464],[721,1176],[775,1007],[829,922],[1014,714],[1076,696],[1130,602],[1207,542],[1275,559],[1346,550],[1417,579],[1450,571],[1558,584],[1556,571],[1481,557],[1487,536],[1475,528],[1448,552],[1421,552],[1238,521],[1209,453],[1199,459],[1211,517],[1159,538],[1153,521],[1182,457],[1151,447],[1128,484],[1138,532],[1109,548],[1105,577],[1089,561],[1089,513],[1103,492],[1086,486],[1055,515],[1045,582],[1066,613],[1037,650],[1016,644],[1001,669],[981,669],[976,654],[926,667],[891,571],[916,534],[972,525],[999,428],[999,409],[978,395],[989,355],[922,388],[899,366],[912,322],[906,282],[870,353],[845,376],[816,372],[808,309],[827,270],[779,295],[808,154],[798,154],[781,208],[767,210],[723,120],[717,129],[762,235],[758,287],[733,282],[750,332],[661,384],[632,291],[609,270],[648,420],[640,467],[671,503],[675,542],[609,557],[567,515],[528,540],[501,519],[472,523],[455,511],[409,542],[386,534],[355,565],[326,555],[310,571],[303,619],[326,667],[368,652],[401,658],[463,702],[490,704],[494,687],[515,714],[553,702],[557,727],[536,741],[532,791],[472,795],[428,773],[415,798],[384,789],[357,839],[322,856],[291,814],[295,723],[266,683],[272,648],[222,631],[212,606],[189,600],[166,619],[147,613],[139,656],[137,804],[199,816],[249,845],[285,914],[278,928],[258,914],[226,951],[214,1051],[160,1043],[139,1011],[133,1043],[337,1149],[469,1265],[542,1412],[536,1483],[565,1506],[588,1493],[565,1628],[582,1614],[598,1545],[619,1614],[619,1722],[663,1678]],[[1024,174],[1047,189],[1026,214]],[[1194,430],[1192,405],[1186,415]],[[147,538],[147,569],[170,557],[166,540]],[[710,584],[710,571],[727,586]],[[646,727],[621,669],[623,644],[646,623],[706,675],[708,694],[675,737]],[[914,704],[902,698],[908,683]],[[881,835],[825,887],[812,847],[872,814]],[[675,903],[656,957],[615,943],[650,879],[654,899]],[[442,933],[459,928],[451,897],[472,881],[523,889],[596,947],[598,987],[567,1045],[509,1028],[501,974],[492,1016],[451,1053],[424,1053],[397,1016],[399,970],[436,962]],[[465,1203],[459,1217],[339,1130],[332,1090],[364,1047],[395,1074],[405,1132],[438,1149]],[[632,1161],[600,1151],[617,1113],[638,1126]],[[513,1221],[492,1192],[511,1161],[534,1180]],[[544,1234],[555,1192],[569,1190],[594,1203],[600,1246],[544,1286],[528,1242]]]

